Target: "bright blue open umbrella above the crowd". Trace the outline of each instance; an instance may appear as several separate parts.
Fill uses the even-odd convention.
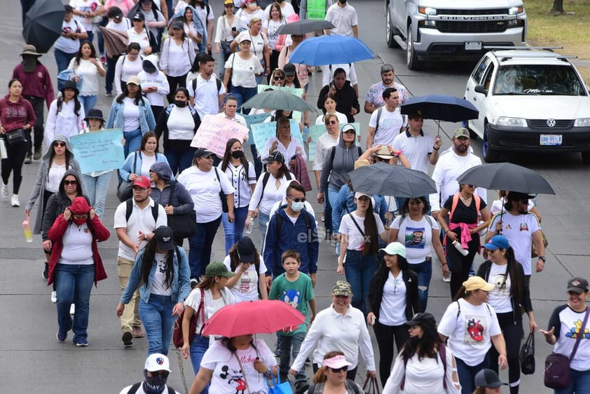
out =
[[[324,66],[373,59],[375,55],[362,41],[349,36],[319,36],[306,39],[289,56],[289,62]]]

